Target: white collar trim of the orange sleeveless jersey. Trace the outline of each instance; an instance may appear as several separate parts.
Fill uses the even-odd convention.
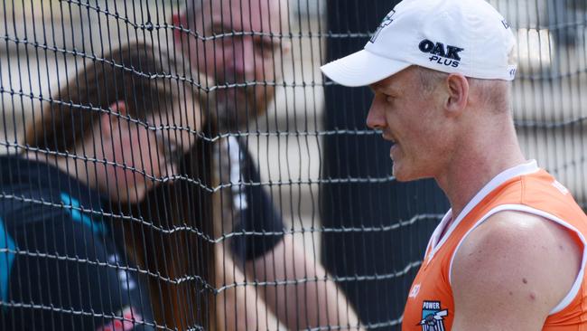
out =
[[[432,237],[430,238],[430,242],[428,243],[428,248],[432,247],[432,252],[428,255],[428,262],[430,262],[436,253],[436,251],[440,250],[443,246],[443,243],[447,241],[447,239],[451,236],[451,233],[456,229],[459,223],[462,221],[467,214],[471,212],[471,210],[479,204],[489,193],[499,187],[499,185],[506,183],[508,180],[520,176],[520,175],[529,175],[534,174],[538,170],[538,165],[536,165],[536,160],[530,160],[524,164],[516,165],[511,168],[508,168],[489,181],[488,184],[485,184],[480,191],[473,196],[471,201],[465,205],[462,209],[462,212],[457,216],[457,218],[452,222],[449,229],[444,233],[443,239],[439,242],[438,239],[443,232],[446,223],[450,222],[452,219],[452,209],[449,209],[448,212],[444,214],[443,221],[441,221],[436,229],[434,230]],[[426,250],[428,251],[428,250]]]

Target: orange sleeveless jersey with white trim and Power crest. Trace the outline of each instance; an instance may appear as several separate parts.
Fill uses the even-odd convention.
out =
[[[450,274],[455,252],[469,232],[490,215],[505,210],[542,216],[576,234],[576,243],[583,249],[581,270],[573,288],[546,318],[543,330],[587,330],[587,277],[584,274],[587,216],[566,188],[539,169],[536,161],[517,165],[491,180],[465,206],[439,241],[444,225],[452,218],[451,211],[444,216],[433,232],[422,266],[410,288],[402,330],[451,330],[454,301]]]

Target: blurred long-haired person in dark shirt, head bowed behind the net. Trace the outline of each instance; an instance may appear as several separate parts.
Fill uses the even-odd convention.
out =
[[[0,157],[0,328],[157,327],[122,230],[139,220],[114,211],[172,181],[197,139],[207,94],[180,68],[146,43],[108,52],[33,113],[24,153]]]

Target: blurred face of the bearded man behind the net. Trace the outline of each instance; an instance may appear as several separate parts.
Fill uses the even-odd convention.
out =
[[[189,26],[200,35],[182,33],[182,52],[219,86],[220,130],[241,128],[273,100],[281,43],[269,34],[281,33],[281,11],[279,0],[211,0],[182,14],[182,23],[192,18]]]

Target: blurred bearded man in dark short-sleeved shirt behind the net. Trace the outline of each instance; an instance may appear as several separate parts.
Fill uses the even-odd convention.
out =
[[[279,78],[275,68],[286,51],[280,37],[285,9],[279,0],[190,0],[173,18],[181,27],[175,34],[176,49],[215,80],[218,110],[212,114],[212,125],[218,133],[247,129],[273,101]],[[284,224],[272,198],[262,187],[247,185],[260,182],[247,141],[234,136],[220,139],[214,159],[220,183],[230,184],[222,190],[226,198],[218,203],[223,207],[217,211],[219,234],[236,234],[232,251],[237,260],[246,260],[247,281],[268,283],[259,285],[257,292],[282,324],[291,329],[359,326],[335,284],[325,280],[321,265],[293,235],[275,234],[283,233]],[[242,232],[255,234],[239,235]],[[228,327],[238,327],[237,317],[229,311],[232,307],[225,305],[226,316],[221,318]],[[239,307],[238,314],[243,310],[247,307]]]

